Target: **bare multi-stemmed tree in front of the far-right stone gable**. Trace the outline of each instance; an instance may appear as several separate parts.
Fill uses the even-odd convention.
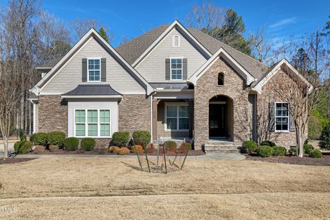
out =
[[[303,144],[307,138],[307,124],[311,111],[320,102],[320,93],[326,88],[324,82],[329,79],[329,50],[325,48],[325,41],[320,32],[310,34],[305,41],[294,43],[291,52],[297,52],[299,48],[304,48],[307,56],[296,67],[296,74],[288,65],[283,67],[292,80],[285,80],[278,85],[276,95],[289,103],[291,117],[296,127],[297,152],[299,157],[303,157]],[[311,63],[307,62],[311,61]]]

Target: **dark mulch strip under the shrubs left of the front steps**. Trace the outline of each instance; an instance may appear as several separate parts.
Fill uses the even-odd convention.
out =
[[[34,153],[30,153],[34,154]],[[110,153],[107,148],[104,149],[94,149],[93,151],[84,151],[84,150],[76,150],[76,151],[43,151],[43,153],[38,153],[39,155],[117,155],[115,153]],[[181,153],[179,155],[183,155]],[[189,151],[188,156],[197,156],[197,155],[204,155],[203,151]],[[128,153],[126,155],[136,155],[136,153]],[[144,153],[140,153],[140,155],[144,155]],[[157,149],[155,148],[148,148],[147,155],[157,155]],[[159,155],[163,155],[162,151],[159,151]],[[166,152],[166,156],[175,156],[176,152],[168,151]]]

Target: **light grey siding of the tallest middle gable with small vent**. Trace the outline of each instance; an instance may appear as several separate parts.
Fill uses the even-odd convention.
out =
[[[179,35],[180,46],[173,47],[173,36]],[[166,38],[151,51],[135,69],[148,82],[166,82],[165,59],[170,57],[187,58],[188,78],[194,74],[206,58],[177,29],[173,29]],[[186,80],[184,80],[186,81]],[[175,80],[177,82],[177,80]]]

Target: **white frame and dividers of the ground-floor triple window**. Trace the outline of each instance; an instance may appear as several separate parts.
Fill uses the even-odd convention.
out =
[[[85,136],[77,136],[76,135],[76,110],[85,110]],[[87,111],[88,110],[98,110],[98,135],[97,136],[88,136],[88,122],[87,122]],[[110,114],[110,122],[109,123],[100,123],[100,110],[109,110],[109,114]],[[78,124],[83,124],[83,123],[78,123]],[[95,123],[92,123],[95,124]],[[100,124],[109,124],[110,128],[109,128],[109,136],[100,136],[101,133],[101,129],[100,129]],[[78,108],[78,109],[74,109],[74,137],[94,137],[94,138],[110,138],[111,137],[111,109],[82,109],[82,108]]]

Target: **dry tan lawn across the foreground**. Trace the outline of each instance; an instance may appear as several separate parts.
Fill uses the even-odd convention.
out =
[[[133,158],[2,164],[0,219],[329,219],[330,167],[188,159],[168,175]]]

